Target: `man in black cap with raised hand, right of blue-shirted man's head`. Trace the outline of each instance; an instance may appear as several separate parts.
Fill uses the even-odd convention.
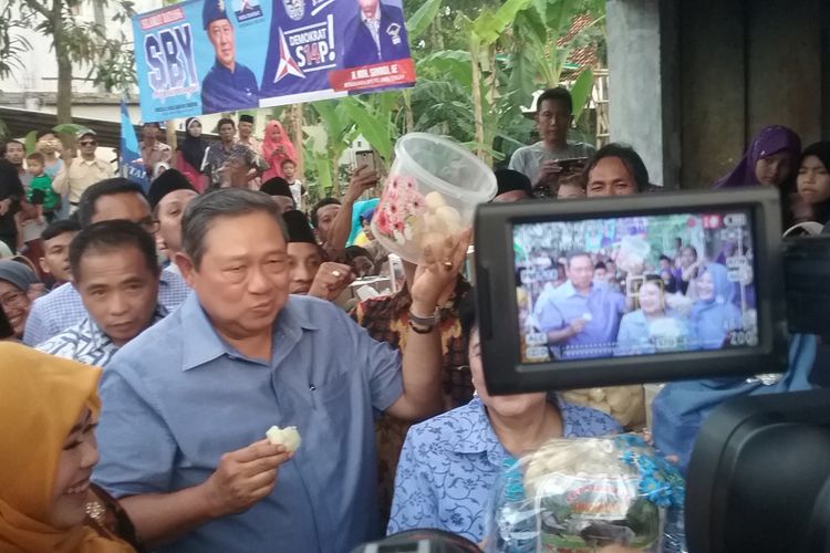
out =
[[[305,213],[294,209],[282,218],[288,228],[289,293],[334,301],[354,281],[352,269],[325,261]]]

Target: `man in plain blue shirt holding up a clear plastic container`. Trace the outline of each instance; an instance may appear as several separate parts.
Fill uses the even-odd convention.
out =
[[[191,201],[176,261],[194,293],[101,384],[94,479],[147,547],[329,553],[381,535],[374,418],[442,408],[436,304],[467,239],[415,281],[402,363],[330,302],[289,296],[284,225],[267,195]],[[299,428],[294,453],[262,439],[272,425]]]

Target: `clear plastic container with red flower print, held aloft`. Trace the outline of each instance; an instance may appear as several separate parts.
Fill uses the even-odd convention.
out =
[[[470,227],[476,206],[496,191],[492,170],[464,146],[411,133],[395,144],[372,231],[388,251],[417,263],[426,244]]]

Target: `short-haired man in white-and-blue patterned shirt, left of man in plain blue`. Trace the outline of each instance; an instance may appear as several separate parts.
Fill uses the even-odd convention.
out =
[[[41,352],[103,367],[167,314],[157,301],[155,243],[138,225],[114,220],[86,227],[72,241],[70,264],[89,315],[40,344]]]

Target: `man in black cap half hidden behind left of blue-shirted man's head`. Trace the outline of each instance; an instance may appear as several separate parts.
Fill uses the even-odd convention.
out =
[[[156,178],[147,191],[153,219],[158,221],[156,247],[169,260],[169,270],[179,273],[173,262],[181,251],[181,216],[187,205],[199,194],[176,169],[167,169]],[[179,273],[180,274],[180,273]]]

